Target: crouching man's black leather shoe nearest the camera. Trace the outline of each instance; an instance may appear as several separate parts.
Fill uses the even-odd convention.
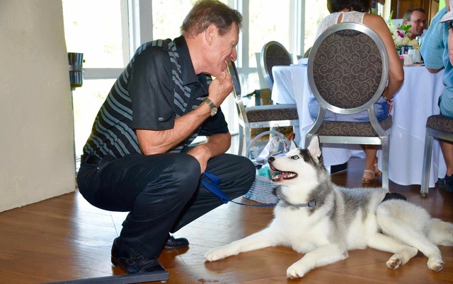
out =
[[[157,259],[148,259],[127,244],[122,244],[119,237],[113,241],[112,264],[120,266],[128,274],[166,271]]]

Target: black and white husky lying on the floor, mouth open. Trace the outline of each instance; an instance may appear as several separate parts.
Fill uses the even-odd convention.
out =
[[[292,143],[287,155],[270,157],[280,172],[273,182],[279,198],[274,219],[264,230],[211,249],[207,261],[273,246],[292,247],[304,256],[287,268],[288,278],[348,257],[349,249],[372,247],[391,252],[386,265],[396,269],[420,250],[428,268],[440,271],[437,245],[453,245],[453,224],[431,218],[425,209],[401,199],[389,199],[382,188],[345,189],[332,184],[323,166],[318,136],[307,149]],[[388,200],[389,199],[389,200]]]

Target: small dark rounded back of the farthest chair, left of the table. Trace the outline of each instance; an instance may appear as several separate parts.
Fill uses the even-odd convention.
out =
[[[273,66],[292,64],[292,58],[289,52],[280,42],[268,42],[261,50],[260,66],[266,83],[272,90],[274,85],[274,77],[272,75]]]

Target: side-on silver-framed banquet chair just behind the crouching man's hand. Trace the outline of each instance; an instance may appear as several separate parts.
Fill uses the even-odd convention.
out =
[[[248,146],[251,143],[252,129],[292,126],[294,133],[299,133],[299,117],[295,104],[245,107],[243,97],[241,97],[241,83],[239,83],[238,71],[233,61],[228,64],[228,71],[233,81],[234,100],[239,114],[239,155],[249,155],[249,153],[243,153],[243,138],[245,136],[246,146]]]

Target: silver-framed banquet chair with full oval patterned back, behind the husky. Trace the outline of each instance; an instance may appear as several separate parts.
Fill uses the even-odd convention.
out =
[[[317,134],[321,143],[382,146],[382,187],[389,189],[391,116],[378,121],[374,103],[389,76],[389,57],[376,32],[360,23],[339,23],[316,40],[308,59],[310,88],[319,101],[319,114],[306,133],[305,145]],[[369,122],[324,121],[326,110],[336,114],[367,111]]]

